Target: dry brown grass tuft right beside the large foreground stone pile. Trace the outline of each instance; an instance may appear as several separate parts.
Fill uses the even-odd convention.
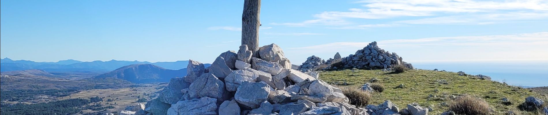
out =
[[[371,94],[358,88],[353,87],[339,87],[343,90],[343,94],[350,100],[351,105],[358,107],[364,107],[371,102]]]

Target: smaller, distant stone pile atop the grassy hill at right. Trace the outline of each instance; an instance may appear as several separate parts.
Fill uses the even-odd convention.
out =
[[[380,49],[376,41],[341,61],[344,63],[344,68],[387,69],[392,68],[392,65],[403,64],[409,69],[414,69],[413,65],[403,62],[403,58],[396,53]]]

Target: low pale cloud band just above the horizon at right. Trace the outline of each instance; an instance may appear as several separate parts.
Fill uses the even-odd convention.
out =
[[[341,52],[353,54],[370,42],[328,43],[289,48],[288,52]],[[378,41],[381,48],[397,52],[409,62],[457,60],[546,60],[548,32],[481,35],[467,37],[437,37]],[[329,54],[331,55],[331,54]]]

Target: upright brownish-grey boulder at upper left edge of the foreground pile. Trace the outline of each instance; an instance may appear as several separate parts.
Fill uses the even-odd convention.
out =
[[[189,59],[189,65],[186,66],[186,76],[185,81],[187,83],[192,83],[196,80],[197,77],[202,76],[204,74],[204,71],[206,68],[204,68],[204,64]]]

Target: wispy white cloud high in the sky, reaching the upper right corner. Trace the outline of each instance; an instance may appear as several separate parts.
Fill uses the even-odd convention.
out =
[[[367,29],[374,25],[394,24],[467,24],[487,25],[516,20],[548,19],[548,1],[478,1],[478,0],[366,0],[358,1],[363,8],[348,11],[324,11],[313,15],[316,19],[293,23],[271,23],[291,27],[336,26],[334,29]],[[349,19],[397,19],[398,17],[424,17],[389,23],[363,23]],[[367,21],[364,20],[364,21]],[[354,26],[360,25],[360,26]],[[373,26],[361,26],[373,25]]]

